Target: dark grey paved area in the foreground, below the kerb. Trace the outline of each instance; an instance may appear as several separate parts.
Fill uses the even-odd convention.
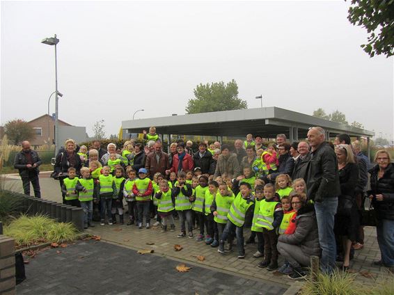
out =
[[[27,279],[17,286],[17,294],[274,295],[286,291],[275,283],[191,264],[187,264],[192,266],[189,272],[179,273],[178,264],[102,241],[79,241],[40,252],[26,264]]]

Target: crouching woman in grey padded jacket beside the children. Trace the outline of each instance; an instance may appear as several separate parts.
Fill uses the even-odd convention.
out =
[[[310,256],[320,256],[321,250],[315,207],[306,202],[304,193],[294,194],[291,204],[297,212],[295,230],[291,234],[281,234],[278,237],[277,248],[292,268],[289,278],[297,280],[306,276],[301,266],[310,266]]]

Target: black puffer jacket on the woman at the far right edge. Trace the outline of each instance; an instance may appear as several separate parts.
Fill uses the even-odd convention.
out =
[[[377,179],[379,165],[368,172],[371,175],[371,190],[368,191],[368,195],[382,194],[384,197],[382,201],[372,199],[372,205],[377,210],[377,218],[394,220],[394,164],[388,164],[383,177],[379,180]]]

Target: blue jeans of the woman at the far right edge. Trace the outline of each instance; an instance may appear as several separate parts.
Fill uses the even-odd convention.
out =
[[[394,221],[388,219],[379,220],[376,232],[381,262],[383,262],[384,266],[394,267]]]

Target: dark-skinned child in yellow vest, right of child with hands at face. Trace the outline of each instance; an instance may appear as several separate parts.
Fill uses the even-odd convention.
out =
[[[193,211],[196,214],[200,233],[196,237],[196,241],[203,241],[204,229],[207,228],[207,221],[204,213],[205,192],[208,190],[208,177],[200,175],[198,177],[198,186],[196,186],[195,198],[193,203]]]

